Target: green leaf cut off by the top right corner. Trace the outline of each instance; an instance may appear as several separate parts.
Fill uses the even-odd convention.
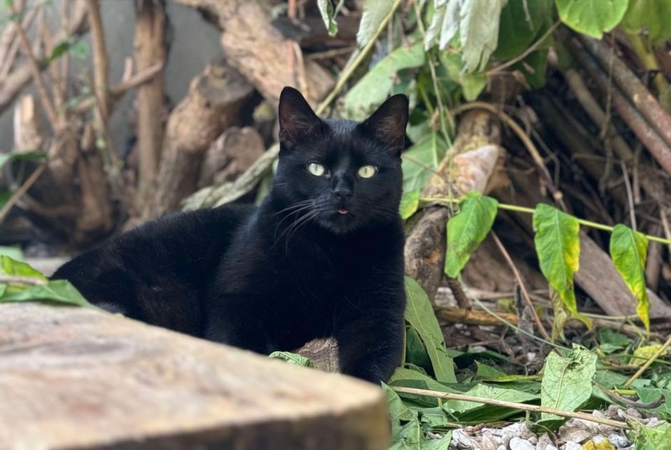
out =
[[[647,36],[652,44],[671,39],[671,0],[630,0],[622,27],[630,34]]]

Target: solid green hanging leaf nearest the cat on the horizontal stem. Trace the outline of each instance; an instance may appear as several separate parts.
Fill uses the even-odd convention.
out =
[[[498,201],[478,192],[466,195],[459,213],[447,221],[445,273],[457,277],[480,242],[487,236],[496,218]]]

